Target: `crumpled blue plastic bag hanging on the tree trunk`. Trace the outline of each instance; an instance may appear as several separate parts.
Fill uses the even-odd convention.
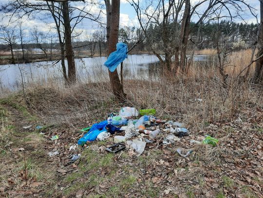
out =
[[[104,63],[104,65],[109,68],[111,72],[114,72],[117,66],[121,64],[121,62],[123,62],[125,58],[128,57],[128,46],[125,43],[119,42],[117,43],[116,47],[117,50],[111,53]]]

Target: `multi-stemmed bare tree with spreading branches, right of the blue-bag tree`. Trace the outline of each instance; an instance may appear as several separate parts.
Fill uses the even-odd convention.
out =
[[[145,1],[145,5],[139,0],[129,2],[137,14],[147,40],[152,40],[152,34],[160,35],[158,42],[151,43],[151,51],[169,71],[174,72],[178,67],[181,67],[183,72],[188,72],[187,46],[191,18],[198,18],[195,22],[195,26],[198,26],[206,19],[211,20],[217,10],[224,10],[225,15],[221,18],[231,19],[235,17],[234,12],[236,16],[241,17],[239,13],[244,14],[245,8],[253,14],[253,8],[245,0],[200,0],[193,4],[190,0],[150,0]],[[228,7],[231,7],[232,12]],[[150,24],[154,24],[154,32],[150,30]]]

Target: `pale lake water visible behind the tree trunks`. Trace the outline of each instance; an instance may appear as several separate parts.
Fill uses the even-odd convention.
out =
[[[196,55],[194,61],[201,65],[209,62],[210,56]],[[103,63],[106,57],[75,59],[77,78],[79,81],[107,81],[108,71]],[[67,65],[67,64],[66,64]],[[118,72],[120,67],[118,67]],[[155,55],[134,54],[129,55],[123,64],[123,76],[125,79],[155,79],[160,76],[162,67]],[[63,81],[60,62],[54,64],[51,61],[43,61],[27,64],[1,65],[0,86],[16,90],[21,85],[21,79],[28,82],[42,83],[49,79]]]

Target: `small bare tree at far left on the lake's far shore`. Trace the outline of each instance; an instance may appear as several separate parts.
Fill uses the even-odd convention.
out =
[[[5,44],[5,48],[8,49],[11,52],[12,63],[15,62],[14,58],[14,45],[17,43],[17,36],[15,34],[15,28],[12,27],[2,27],[1,28],[1,35],[0,40],[2,40],[3,44]]]

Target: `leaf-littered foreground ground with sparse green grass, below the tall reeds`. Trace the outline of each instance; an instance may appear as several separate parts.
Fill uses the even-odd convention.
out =
[[[83,135],[79,129],[92,123],[49,125],[4,100],[1,112],[1,197],[263,197],[263,109],[243,109],[231,122],[203,123],[174,144],[163,145],[166,134],[159,135],[139,157],[128,150],[107,153],[113,136],[69,151]],[[218,138],[218,145],[189,143],[205,134]],[[50,140],[54,135],[59,139]],[[181,157],[178,147],[193,153]],[[53,151],[59,154],[49,157]]]

